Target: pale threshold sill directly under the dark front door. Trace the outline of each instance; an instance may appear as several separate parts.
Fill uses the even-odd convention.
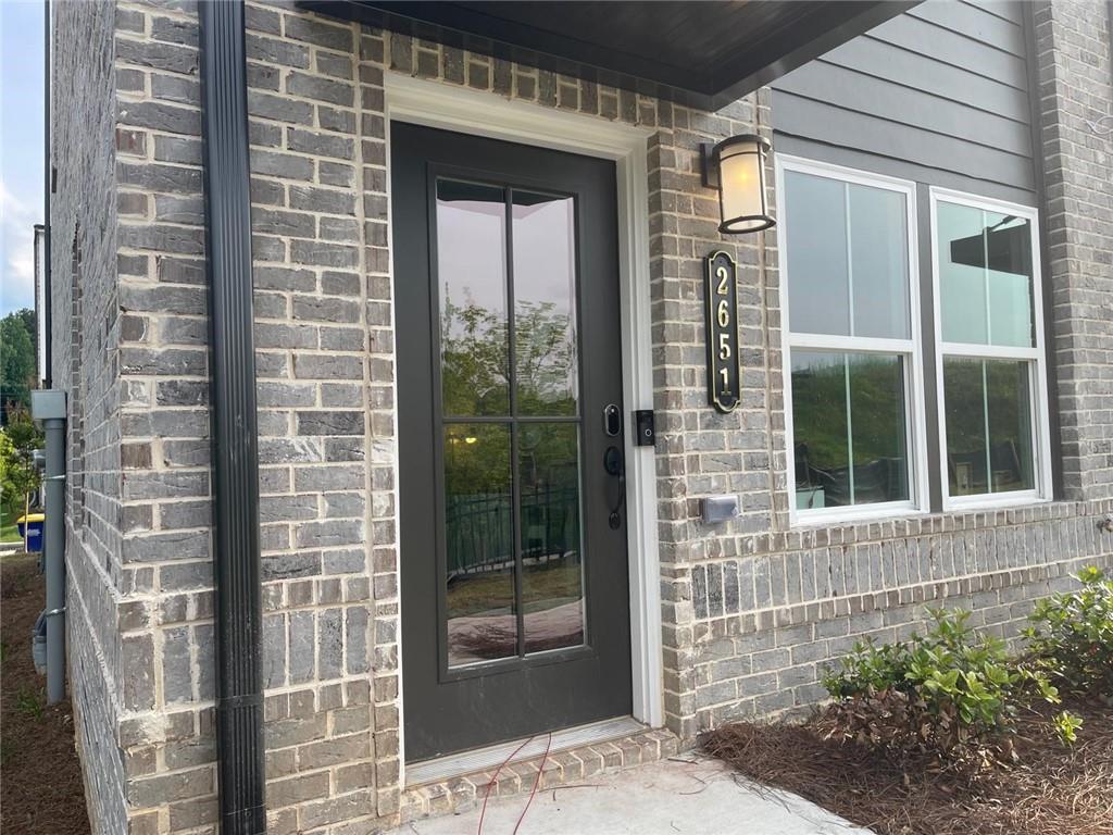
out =
[[[512,739],[509,743],[499,743],[486,748],[474,748],[472,750],[460,752],[459,754],[447,754],[435,759],[425,759],[413,765],[406,765],[406,788],[424,786],[427,783],[439,783],[452,777],[460,777],[464,774],[484,772],[490,768],[498,768],[508,758],[511,763],[523,759],[540,757],[545,753],[545,747],[550,754],[556,754],[570,748],[579,748],[595,743],[604,743],[610,739],[618,739],[632,734],[640,734],[649,730],[648,725],[634,719],[632,716],[620,716],[615,719],[604,719],[593,721],[590,725],[578,725],[574,728],[554,730],[552,741],[549,740],[549,733],[535,735],[532,740],[524,746],[525,739]],[[518,750],[519,746],[522,749]]]

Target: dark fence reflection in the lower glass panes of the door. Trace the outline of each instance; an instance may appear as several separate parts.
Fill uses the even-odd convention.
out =
[[[510,493],[450,495],[445,507],[449,578],[514,564]],[[522,494],[522,557],[541,563],[580,550],[580,491],[543,488]]]

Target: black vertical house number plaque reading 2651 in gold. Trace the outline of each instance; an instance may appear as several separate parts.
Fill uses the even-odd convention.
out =
[[[738,268],[725,252],[707,256],[707,395],[722,413],[740,396],[738,366]]]

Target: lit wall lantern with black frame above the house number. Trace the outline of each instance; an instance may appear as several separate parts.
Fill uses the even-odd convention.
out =
[[[777,223],[766,202],[765,158],[770,150],[772,146],[754,134],[700,146],[703,185],[719,189],[719,232],[725,235],[761,232]]]

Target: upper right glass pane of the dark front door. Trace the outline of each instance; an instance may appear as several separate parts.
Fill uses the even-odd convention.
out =
[[[518,413],[575,414],[575,204],[513,191]]]

